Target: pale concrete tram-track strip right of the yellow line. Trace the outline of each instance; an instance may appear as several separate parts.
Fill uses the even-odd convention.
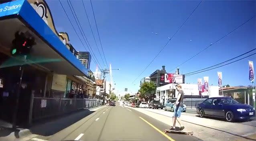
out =
[[[172,113],[169,111],[140,108],[132,109],[166,123],[167,125],[172,124]],[[185,115],[185,113],[181,116],[181,120],[185,126],[185,131],[193,131],[195,137],[205,141],[249,141],[249,139],[255,139],[256,127],[252,125],[200,118]]]

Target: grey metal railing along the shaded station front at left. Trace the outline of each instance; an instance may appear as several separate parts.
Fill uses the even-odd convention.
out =
[[[55,98],[33,98],[31,120],[51,117],[69,113],[83,108],[92,108],[100,105],[96,99],[55,99]]]

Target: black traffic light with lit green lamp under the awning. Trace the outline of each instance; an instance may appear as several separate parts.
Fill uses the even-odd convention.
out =
[[[23,32],[16,32],[14,36],[10,50],[11,55],[28,55],[33,45],[35,45],[35,39],[31,36],[26,37]]]

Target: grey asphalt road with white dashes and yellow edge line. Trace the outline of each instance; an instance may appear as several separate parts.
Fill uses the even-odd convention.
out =
[[[56,125],[57,126],[57,125]],[[78,122],[49,135],[29,141],[198,141],[182,134],[163,133],[170,126],[125,107],[102,107]],[[51,130],[51,129],[49,129]]]

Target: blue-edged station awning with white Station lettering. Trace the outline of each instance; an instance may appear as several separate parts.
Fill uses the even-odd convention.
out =
[[[59,37],[41,19],[26,0],[16,0],[0,4],[0,40],[10,48],[17,30],[28,31],[35,36],[37,45],[31,55],[61,61],[44,62],[41,66],[58,74],[88,76],[88,70],[66,48]],[[0,46],[1,47],[1,46]]]

